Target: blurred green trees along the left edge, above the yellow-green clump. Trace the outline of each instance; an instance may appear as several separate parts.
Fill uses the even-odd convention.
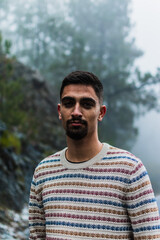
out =
[[[26,119],[26,113],[21,109],[23,101],[22,81],[20,77],[11,81],[12,58],[7,55],[10,52],[11,43],[4,40],[0,34],[0,118],[9,128],[20,126]]]

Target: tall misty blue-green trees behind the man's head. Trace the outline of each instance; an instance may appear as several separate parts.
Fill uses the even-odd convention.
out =
[[[129,4],[128,0],[16,0],[8,5],[13,19],[8,35],[16,56],[55,88],[77,69],[92,71],[102,80],[108,114],[101,139],[121,147],[131,146],[136,137],[137,109],[156,107],[151,86],[159,82],[158,73],[143,76],[134,69],[142,52],[130,37]]]

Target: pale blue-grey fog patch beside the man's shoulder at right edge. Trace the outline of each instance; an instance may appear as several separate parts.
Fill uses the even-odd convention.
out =
[[[145,164],[150,175],[152,185],[157,194],[160,194],[160,114],[151,111],[137,120],[139,135],[132,152]]]

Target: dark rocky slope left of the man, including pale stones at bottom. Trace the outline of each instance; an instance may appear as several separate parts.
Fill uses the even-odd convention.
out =
[[[2,69],[3,63],[0,65]],[[0,115],[0,239],[7,240],[26,239],[28,223],[24,206],[28,204],[35,166],[65,145],[57,114],[57,93],[38,72],[12,61],[12,74],[7,81],[17,78],[23,81],[21,108],[31,116],[31,122],[26,123],[25,131],[13,126],[11,132]],[[20,144],[18,152],[14,139],[10,145],[1,141],[10,132]]]

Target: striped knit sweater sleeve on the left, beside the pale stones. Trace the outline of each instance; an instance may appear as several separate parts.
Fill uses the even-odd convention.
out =
[[[29,199],[30,240],[45,240],[45,216],[41,191],[37,188],[35,174],[32,179]]]

